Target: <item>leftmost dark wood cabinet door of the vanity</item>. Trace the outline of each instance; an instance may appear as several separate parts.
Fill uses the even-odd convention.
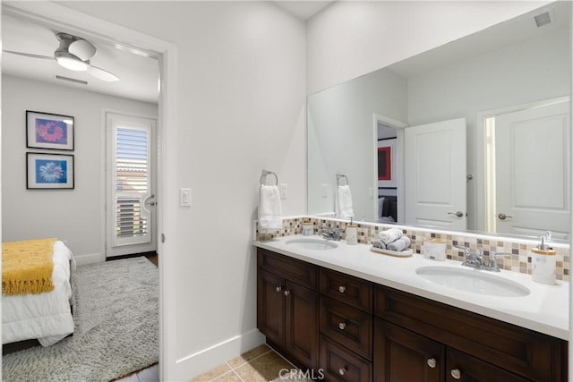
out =
[[[272,342],[284,345],[285,280],[264,270],[257,279],[257,327]]]

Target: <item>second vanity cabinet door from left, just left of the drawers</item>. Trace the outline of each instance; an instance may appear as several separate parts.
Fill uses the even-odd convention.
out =
[[[311,369],[318,365],[319,294],[302,285],[285,284],[285,348]]]

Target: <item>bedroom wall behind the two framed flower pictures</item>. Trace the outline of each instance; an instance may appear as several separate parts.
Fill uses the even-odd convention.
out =
[[[2,226],[5,242],[57,237],[74,256],[101,256],[103,148],[101,109],[157,115],[157,105],[46,82],[2,76]],[[26,148],[26,110],[73,115],[74,150]],[[26,152],[73,154],[73,190],[26,190]],[[102,258],[103,259],[103,258]],[[81,259],[79,259],[81,261]]]

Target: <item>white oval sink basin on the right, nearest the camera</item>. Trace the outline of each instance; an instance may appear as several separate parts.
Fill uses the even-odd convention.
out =
[[[530,293],[522,284],[475,269],[419,267],[415,273],[432,283],[470,293],[498,297],[520,297]]]

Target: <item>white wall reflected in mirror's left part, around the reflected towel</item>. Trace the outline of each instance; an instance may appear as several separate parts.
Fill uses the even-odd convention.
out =
[[[407,81],[389,70],[366,74],[308,98],[309,214],[334,211],[335,174],[339,173],[348,177],[356,220],[377,220],[373,114],[406,123],[407,102]],[[327,198],[322,197],[322,184],[329,185]]]

